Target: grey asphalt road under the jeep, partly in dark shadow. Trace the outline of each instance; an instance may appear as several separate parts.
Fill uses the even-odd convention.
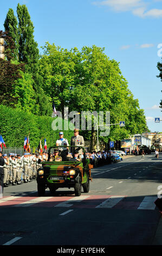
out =
[[[162,155],[133,156],[92,170],[89,193],[59,189],[37,196],[37,184],[4,188],[0,245],[153,245],[160,220]],[[162,191],[161,191],[162,194]]]

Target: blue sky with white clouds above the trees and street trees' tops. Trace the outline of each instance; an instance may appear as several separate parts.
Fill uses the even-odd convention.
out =
[[[105,47],[107,56],[120,62],[129,89],[145,111],[148,128],[162,132],[161,122],[154,122],[162,119],[158,107],[162,82],[156,77],[162,57],[162,0],[2,1],[0,29],[4,30],[9,8],[17,16],[18,3],[27,5],[39,48],[46,41],[68,49]]]

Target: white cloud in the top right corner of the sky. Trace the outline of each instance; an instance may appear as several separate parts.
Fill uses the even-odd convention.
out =
[[[154,2],[161,2],[161,1],[162,0],[154,0]],[[93,2],[93,4],[103,5],[117,12],[131,11],[133,15],[141,18],[162,17],[162,9],[147,10],[148,2],[144,2],[144,0],[105,0],[105,1],[96,1],[96,2]]]

